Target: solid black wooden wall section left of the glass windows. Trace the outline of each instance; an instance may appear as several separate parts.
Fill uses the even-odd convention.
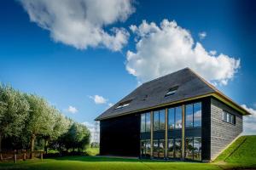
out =
[[[140,155],[140,115],[119,116],[100,123],[100,154]]]

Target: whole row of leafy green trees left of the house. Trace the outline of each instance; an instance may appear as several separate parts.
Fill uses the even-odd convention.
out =
[[[0,84],[0,151],[2,140],[6,150],[34,150],[35,144],[44,150],[84,150],[90,132],[42,97]]]

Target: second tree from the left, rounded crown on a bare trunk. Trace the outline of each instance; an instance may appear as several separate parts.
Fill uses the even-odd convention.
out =
[[[29,116],[26,122],[26,133],[31,137],[30,150],[33,151],[36,136],[47,136],[52,133],[55,115],[43,98],[35,94],[26,94],[26,99],[30,105]]]

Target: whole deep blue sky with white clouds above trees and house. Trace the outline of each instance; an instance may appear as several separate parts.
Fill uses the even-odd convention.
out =
[[[108,105],[129,94],[139,83],[194,65],[192,69],[198,69],[224,94],[238,104],[246,105],[252,112],[256,110],[256,4],[253,1],[137,0],[123,3],[126,6],[120,4],[112,8],[109,4],[106,8],[103,6],[103,10],[94,4],[84,3],[89,9],[83,16],[79,13],[83,8],[78,8],[76,4],[56,6],[45,2],[33,4],[30,0],[1,1],[0,82],[9,83],[23,92],[41,95],[66,116],[78,122],[92,123]],[[32,5],[36,8],[32,8]],[[67,20],[68,17],[65,17],[67,8],[78,13],[72,17],[77,17],[76,24],[82,23],[81,30],[73,31],[73,18]],[[91,12],[90,8],[94,8],[94,11]],[[45,10],[48,10],[49,15],[45,15]],[[109,14],[109,11],[113,13]],[[54,19],[51,14],[55,16]],[[160,27],[164,19],[168,20],[168,26]],[[144,25],[143,20],[147,21]],[[178,27],[170,26],[173,20]],[[151,22],[154,22],[154,26],[150,25]],[[146,30],[145,26],[151,30]],[[95,32],[96,28],[100,31]],[[116,30],[113,31],[113,28]],[[88,31],[84,32],[86,29]],[[175,37],[177,34],[177,38],[171,37],[172,42],[163,40],[162,46],[166,47],[162,47],[162,42],[155,43],[157,39],[153,35],[156,35],[155,38],[157,35],[160,37],[165,29],[173,31],[168,35]],[[178,38],[184,36],[184,31],[185,34],[189,33],[190,40],[192,38],[194,42],[192,49],[189,48],[193,53],[189,51],[188,56],[191,56],[185,60],[179,60],[182,54],[178,59],[172,58],[166,53],[175,54],[172,47],[183,48],[186,45],[182,42],[181,46],[177,46]],[[146,32],[146,35],[142,32]],[[200,37],[200,33],[206,36]],[[140,41],[141,47],[138,48]],[[207,51],[205,57],[201,58],[207,67],[193,63],[193,60],[198,59],[197,54],[201,54],[195,52],[196,42]],[[157,49],[166,52],[165,59],[170,59],[173,69],[165,66],[163,70],[156,70],[154,66],[145,68],[137,65],[139,59],[154,65],[151,61],[160,60],[160,56],[150,55],[161,54]],[[210,54],[210,51],[217,53]],[[131,52],[132,59],[128,59],[127,52]],[[227,65],[220,58],[212,61],[211,57],[218,58],[220,54],[227,56],[224,58]],[[132,74],[127,67],[135,72]],[[229,70],[224,71],[225,68]],[[223,72],[225,76],[220,73],[207,74],[209,70]],[[96,102],[95,95],[99,96]],[[255,116],[246,121],[247,127],[254,125],[256,111]],[[247,133],[256,133],[256,126],[247,130]]]

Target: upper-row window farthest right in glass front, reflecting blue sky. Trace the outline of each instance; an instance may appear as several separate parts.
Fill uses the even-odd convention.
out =
[[[186,105],[185,127],[201,127],[201,102]]]

